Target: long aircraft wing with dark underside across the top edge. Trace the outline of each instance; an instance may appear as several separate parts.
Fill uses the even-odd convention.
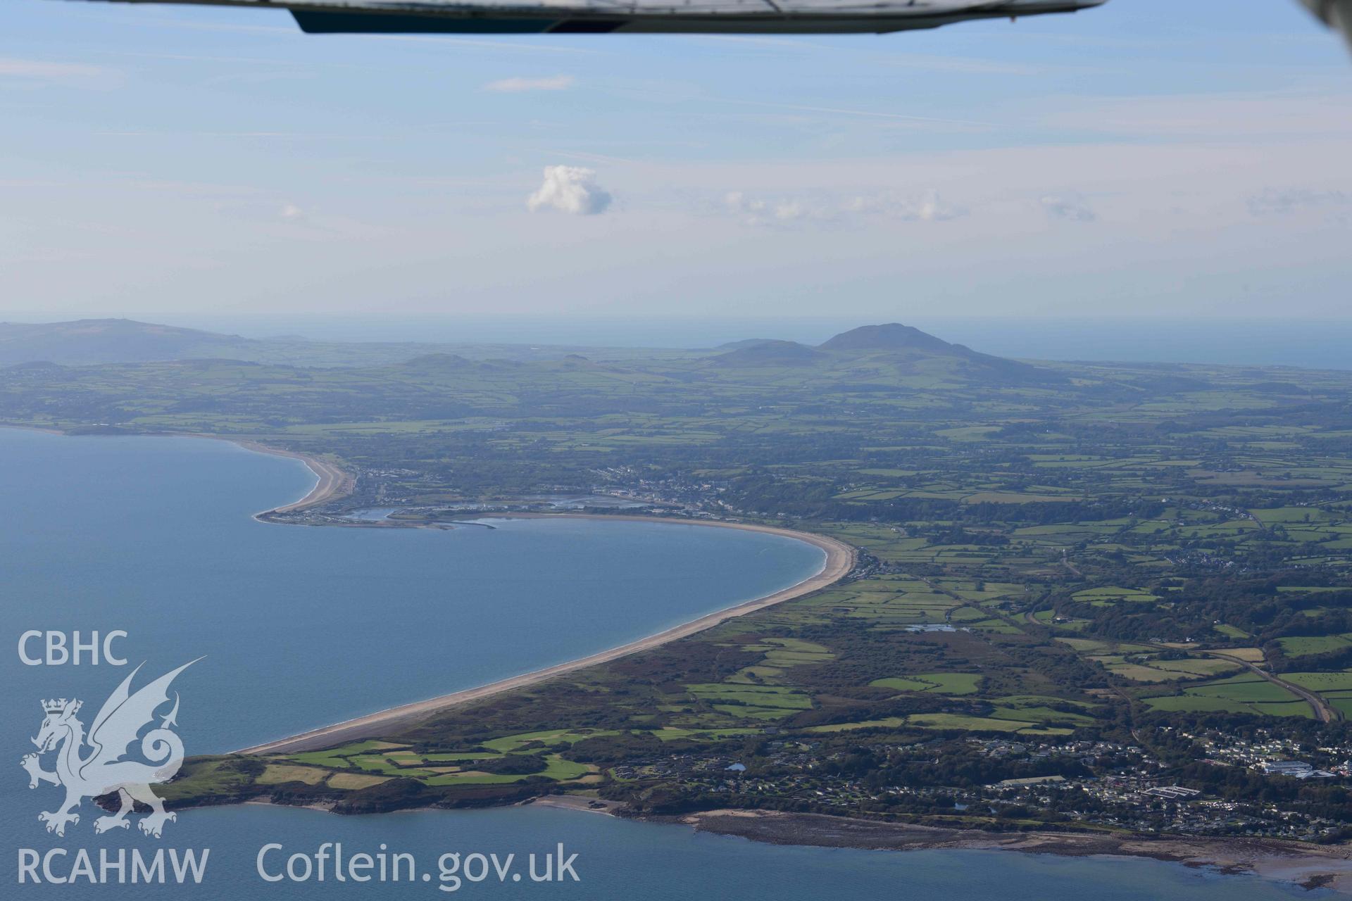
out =
[[[310,34],[850,34],[1075,12],[1106,0],[112,0],[289,9]]]

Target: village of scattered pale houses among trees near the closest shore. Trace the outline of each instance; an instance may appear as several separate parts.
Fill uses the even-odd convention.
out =
[[[1349,747],[1302,748],[1267,733],[1253,740],[1215,732],[1183,738],[1207,750],[1206,763],[1241,767],[1265,779],[1328,779],[1344,785],[1352,781]],[[1007,778],[987,785],[880,783],[876,775],[844,773],[840,763],[845,754],[829,752],[819,742],[792,738],[768,742],[768,754],[752,765],[727,756],[671,754],[615,766],[608,774],[622,783],[679,786],[680,797],[702,806],[822,812],[927,825],[967,823],[975,828],[1017,829],[1037,824],[1303,842],[1334,840],[1345,829],[1334,817],[1259,798],[1222,797],[1206,786],[1186,785],[1194,779],[1176,778],[1172,773],[1176,767],[1133,744],[967,738],[957,743],[933,740],[872,750],[898,763],[937,759],[953,744],[982,758],[1019,759],[1067,774]],[[1293,759],[1297,756],[1309,759]],[[1330,763],[1333,759],[1340,762]]]

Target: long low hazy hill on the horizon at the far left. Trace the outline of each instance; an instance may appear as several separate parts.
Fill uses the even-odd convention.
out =
[[[195,328],[131,319],[80,319],[69,323],[0,323],[0,366],[14,363],[139,363],[200,357],[239,358],[253,342]]]

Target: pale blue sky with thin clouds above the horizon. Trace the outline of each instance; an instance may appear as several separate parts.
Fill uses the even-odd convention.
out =
[[[803,38],[3,19],[0,319],[1352,319],[1352,59],[1290,0]]]

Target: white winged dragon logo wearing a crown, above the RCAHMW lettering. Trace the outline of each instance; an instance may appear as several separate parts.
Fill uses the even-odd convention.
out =
[[[169,684],[196,662],[184,663],[131,694],[128,689],[131,679],[141,671],[141,666],[138,666],[104,701],[99,715],[93,717],[88,736],[85,736],[84,724],[76,719],[81,701],[59,698],[42,702],[46,717],[42,720],[38,738],[32,739],[32,743],[38,746],[38,752],[26,754],[20,765],[28,771],[30,789],[38,788],[39,782],[50,782],[66,789],[66,800],[61,806],[38,815],[38,819],[47,824],[47,832],[65,835],[68,823],[80,823],[80,815],[74,813],[74,809],[84,798],[96,798],[114,792],[118,793],[119,809],[116,813],[95,820],[95,832],[126,829],[128,827],[127,815],[131,813],[135,801],[147,805],[151,810],[137,824],[146,835],[158,839],[165,823],[177,819],[176,815],[165,812],[164,801],[150,790],[151,783],[173,778],[183,765],[183,740],[169,728],[177,725],[174,720],[178,716],[177,692],[174,693],[173,709],[164,717],[160,727],[150,729],[141,738],[141,754],[151,763],[122,758],[137,740],[141,729],[154,723],[155,709],[168,704]],[[142,666],[145,665],[142,663]],[[89,746],[91,751],[87,756],[81,756],[80,751],[85,744]],[[57,751],[55,773],[42,769],[41,755],[49,751]]]

